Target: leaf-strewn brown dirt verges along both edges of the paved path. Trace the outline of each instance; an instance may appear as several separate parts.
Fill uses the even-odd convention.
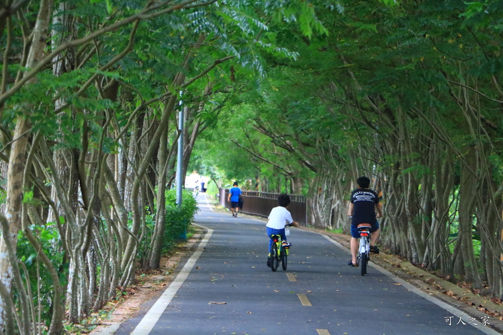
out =
[[[227,211],[224,208],[215,208],[215,210],[222,212]],[[264,220],[264,222],[266,222],[265,219],[256,216],[241,216]],[[330,236],[330,238],[339,242],[349,250],[350,236],[329,233],[307,227],[301,227],[299,229]],[[202,239],[203,233],[204,232],[199,232],[186,244],[177,246],[169,255],[163,256],[160,269],[151,271],[148,274],[139,273],[137,276],[137,283],[127,290],[127,294],[124,295],[121,300],[111,302],[106,306],[105,311],[109,311],[108,315],[105,313],[97,313],[89,319],[89,324],[81,324],[81,333],[89,332],[85,329],[96,325],[96,328],[92,330],[90,334],[112,334],[122,322],[137,313],[142,303],[152,298],[159,297],[181,270],[181,267],[178,267],[180,261],[189,257],[195,251],[198,243]],[[418,289],[421,289],[423,292],[433,295],[465,313],[472,315],[477,320],[481,320],[483,316],[489,316],[488,323],[490,326],[494,330],[503,333],[503,305],[501,301],[491,300],[489,297],[475,294],[468,288],[458,286],[439,278],[428,271],[413,266],[407,261],[382,251],[379,255],[372,256],[372,262]]]

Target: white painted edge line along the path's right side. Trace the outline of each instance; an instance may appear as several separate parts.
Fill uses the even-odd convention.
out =
[[[319,234],[319,233],[314,233],[314,234],[321,235],[322,237],[324,237],[325,239],[327,239],[332,244],[338,246],[341,249],[344,249],[345,251],[348,251],[348,248],[344,247],[339,242],[332,240],[329,236],[324,235],[324,234]],[[444,308],[445,310],[447,310],[449,313],[453,314],[454,316],[461,317],[462,319],[466,319],[466,320],[471,319],[471,316],[468,315],[468,314],[466,314],[465,312],[463,312],[463,311],[457,309],[456,307],[453,307],[453,306],[449,305],[448,303],[445,303],[445,302],[443,302],[443,301],[441,301],[441,300],[439,300],[439,299],[437,299],[437,298],[435,298],[435,297],[433,297],[433,296],[431,296],[431,295],[429,295],[429,294],[421,291],[417,287],[413,286],[412,284],[407,283],[405,280],[403,280],[401,278],[398,278],[397,276],[395,276],[394,274],[392,274],[388,270],[380,267],[379,265],[377,265],[375,263],[368,263],[368,265],[371,266],[371,267],[373,267],[374,269],[382,272],[384,275],[386,275],[389,278],[393,279],[397,283],[400,283],[403,287],[405,287],[409,291],[412,291],[415,294],[417,294],[418,296],[421,296],[421,297],[423,297],[423,298],[425,298],[425,299],[433,302],[437,306],[439,306],[441,308]],[[489,328],[487,326],[484,326],[482,324],[470,323],[470,325],[472,325],[473,327],[477,328],[478,330],[486,333],[487,335],[501,335],[499,332],[497,332],[497,331],[495,331],[495,330],[493,330],[493,329],[491,329],[491,328]]]

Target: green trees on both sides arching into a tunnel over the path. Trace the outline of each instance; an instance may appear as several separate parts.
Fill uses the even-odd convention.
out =
[[[303,194],[318,228],[367,175],[386,249],[503,296],[500,2],[0,6],[0,333],[159,266],[180,136],[184,176]]]

